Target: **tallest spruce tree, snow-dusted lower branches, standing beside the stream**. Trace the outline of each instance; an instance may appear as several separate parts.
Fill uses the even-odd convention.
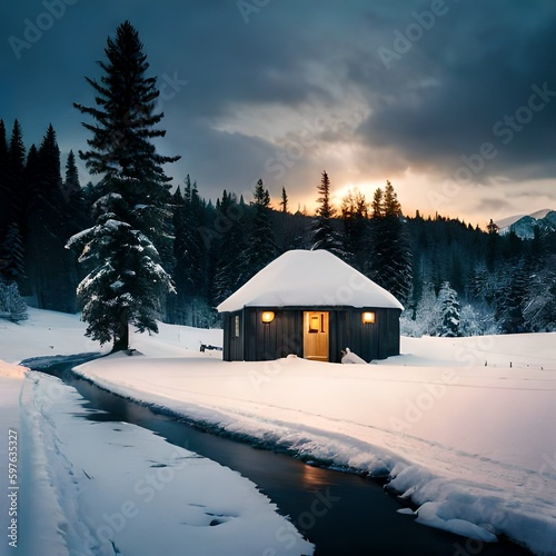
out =
[[[113,350],[129,346],[129,325],[158,331],[161,298],[172,289],[160,261],[171,264],[170,178],[162,165],[179,157],[156,151],[152,139],[162,113],[156,113],[159,91],[147,77],[149,64],[137,30],[129,21],[108,38],[106,62],[99,62],[100,82],[87,78],[96,107],[76,103],[93,123],[90,149],[80,151],[87,168],[101,177],[95,188],[96,226],[75,236],[69,245],[81,249],[80,260],[95,269],[81,281],[87,334]]]

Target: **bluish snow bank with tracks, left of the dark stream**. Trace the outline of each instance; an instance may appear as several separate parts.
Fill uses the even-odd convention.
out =
[[[75,389],[40,373],[21,403],[33,471],[23,553],[312,554],[238,473],[140,427],[87,420]]]

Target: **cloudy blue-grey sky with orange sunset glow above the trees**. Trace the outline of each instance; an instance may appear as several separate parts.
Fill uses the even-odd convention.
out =
[[[406,214],[556,209],[554,0],[4,0],[0,118],[86,147],[108,36],[129,19],[161,90],[175,183],[314,207],[389,179]],[[89,176],[80,163],[81,180]]]

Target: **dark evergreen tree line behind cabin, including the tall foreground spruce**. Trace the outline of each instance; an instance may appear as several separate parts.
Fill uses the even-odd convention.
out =
[[[0,121],[0,315],[2,302],[24,314],[19,290],[39,308],[81,308],[89,336],[125,349],[129,325],[218,326],[215,307],[278,255],[328,249],[405,305],[405,334],[556,329],[554,232],[522,240],[404,216],[389,181],[371,200],[355,190],[335,207],[326,171],[315,215],[290,211],[285,188],[272,208],[262,180],[248,199],[224,190],[207,201],[189,176],[172,191],[162,167],[179,157],[151,141],[165,133],[159,92],[129,22],[105,53],[100,80],[87,78],[96,106],[75,105],[89,118],[79,156],[96,183],[81,187],[72,151],[62,176],[52,126],[26,148],[18,121],[9,138]]]

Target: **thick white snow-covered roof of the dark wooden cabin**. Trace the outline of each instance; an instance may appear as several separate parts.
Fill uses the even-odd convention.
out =
[[[285,252],[217,309],[231,312],[244,307],[335,305],[404,309],[389,291],[322,249]]]

